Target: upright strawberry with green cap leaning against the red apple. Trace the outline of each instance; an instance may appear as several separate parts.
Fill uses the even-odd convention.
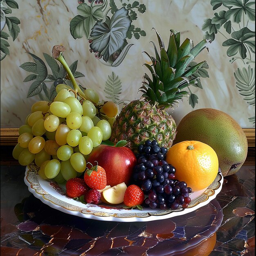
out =
[[[104,189],[107,185],[106,171],[99,165],[87,168],[83,178],[91,189]]]

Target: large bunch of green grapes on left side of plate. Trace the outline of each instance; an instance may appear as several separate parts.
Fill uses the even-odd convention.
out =
[[[56,92],[52,103],[32,105],[19,128],[13,158],[22,166],[34,162],[43,179],[62,183],[82,175],[92,149],[110,138],[118,108],[112,101],[97,105],[99,95],[91,88],[84,90],[87,99],[64,84]]]

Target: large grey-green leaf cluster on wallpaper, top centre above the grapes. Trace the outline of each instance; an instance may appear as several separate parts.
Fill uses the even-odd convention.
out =
[[[127,0],[129,2],[129,0]],[[137,20],[137,12],[146,11],[145,4],[138,1],[126,3],[124,0],[79,1],[79,15],[70,21],[70,33],[74,39],[83,36],[90,43],[90,52],[104,65],[117,67],[124,60],[130,47],[127,39],[139,39],[146,32],[132,25]],[[109,7],[108,7],[109,5]],[[120,7],[118,7],[121,5]]]

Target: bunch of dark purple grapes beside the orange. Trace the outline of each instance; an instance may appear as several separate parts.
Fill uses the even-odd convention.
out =
[[[186,182],[175,179],[175,167],[165,161],[167,148],[160,147],[156,140],[148,139],[138,147],[138,151],[138,164],[132,177],[134,183],[148,195],[144,207],[173,210],[180,205],[188,207],[192,189],[187,187]]]

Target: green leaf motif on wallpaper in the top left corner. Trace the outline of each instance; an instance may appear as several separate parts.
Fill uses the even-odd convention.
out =
[[[17,38],[20,33],[20,20],[14,16],[8,16],[12,13],[11,9],[18,9],[19,6],[14,0],[0,0],[0,21],[1,21],[1,32],[0,32],[0,61],[2,61],[7,55],[10,55],[8,37],[11,36],[13,41]],[[8,30],[9,33],[3,31]]]

